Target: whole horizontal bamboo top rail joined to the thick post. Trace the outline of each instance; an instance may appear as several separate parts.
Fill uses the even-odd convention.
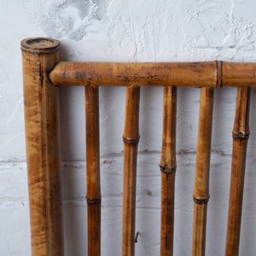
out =
[[[61,61],[49,79],[55,85],[256,87],[256,63]]]

